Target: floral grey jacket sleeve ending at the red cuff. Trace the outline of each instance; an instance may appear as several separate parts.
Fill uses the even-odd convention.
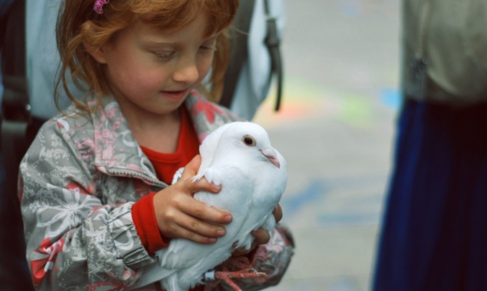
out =
[[[154,262],[137,235],[133,202],[102,202],[97,174],[80,148],[66,128],[49,121],[21,163],[27,260],[38,289],[119,289]]]

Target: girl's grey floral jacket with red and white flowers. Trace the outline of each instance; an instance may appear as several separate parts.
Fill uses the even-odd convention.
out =
[[[200,141],[239,119],[197,93],[185,105]],[[22,160],[19,179],[35,287],[124,289],[138,281],[141,268],[156,261],[142,245],[131,208],[164,187],[113,98],[89,117],[59,115],[46,122]],[[284,232],[277,228],[255,256],[268,277],[237,281],[243,289],[280,280],[293,252]]]

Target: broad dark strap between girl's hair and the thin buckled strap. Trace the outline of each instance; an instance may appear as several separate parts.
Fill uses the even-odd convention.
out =
[[[235,20],[233,21],[236,34],[234,36],[232,35],[229,39],[230,62],[225,72],[223,93],[220,99],[220,104],[227,108],[230,108],[240,71],[249,55],[247,38],[252,22],[252,15],[254,14],[254,5],[255,0],[240,1]]]

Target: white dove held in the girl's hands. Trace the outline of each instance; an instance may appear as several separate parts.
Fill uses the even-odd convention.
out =
[[[263,227],[271,233],[276,224],[272,212],[286,188],[286,161],[262,126],[227,123],[208,135],[199,150],[201,166],[193,181],[205,177],[222,187],[218,194],[200,191],[194,198],[230,212],[232,222],[211,245],[173,239],[156,252],[161,266],[145,269],[142,280],[132,287],[161,280],[167,290],[188,290],[202,283],[203,273],[228,259],[234,249],[250,249],[252,231]]]

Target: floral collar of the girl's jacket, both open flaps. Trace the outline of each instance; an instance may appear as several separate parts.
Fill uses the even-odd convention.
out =
[[[93,106],[93,103],[91,103]],[[226,108],[209,102],[193,91],[185,101],[200,142],[224,123],[240,120]],[[105,96],[92,115],[94,155],[97,169],[115,176],[140,177],[160,184],[154,167],[142,152],[113,96]]]

